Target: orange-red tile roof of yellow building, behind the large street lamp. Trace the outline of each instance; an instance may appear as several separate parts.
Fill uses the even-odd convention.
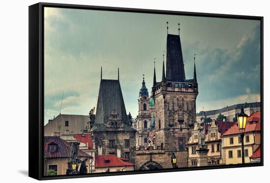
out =
[[[254,112],[247,118],[247,122],[253,122],[253,120],[258,118],[258,116],[260,117],[260,115],[261,115],[261,112]],[[245,126],[245,132],[249,132],[249,131],[261,131],[261,120],[259,119],[258,122],[255,124],[247,123]],[[233,126],[231,126],[230,129],[225,131],[222,136],[238,134],[238,133],[239,133],[239,127],[238,127],[238,123],[236,122]]]

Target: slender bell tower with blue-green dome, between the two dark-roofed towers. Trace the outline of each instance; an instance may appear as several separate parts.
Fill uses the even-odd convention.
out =
[[[149,99],[149,93],[145,86],[144,77],[141,83],[138,98],[138,116],[136,122],[136,148],[146,147],[148,142],[148,133],[152,116],[155,113],[155,103],[152,98]]]

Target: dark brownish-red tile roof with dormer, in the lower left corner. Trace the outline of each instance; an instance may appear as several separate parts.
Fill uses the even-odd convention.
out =
[[[57,145],[55,152],[50,152],[49,145]],[[49,158],[67,158],[70,157],[70,144],[58,136],[44,136],[44,156]],[[90,155],[79,150],[79,157],[90,157]]]

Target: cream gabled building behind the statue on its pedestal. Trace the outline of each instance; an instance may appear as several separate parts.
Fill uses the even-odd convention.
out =
[[[212,120],[211,124],[205,125],[205,145],[209,149],[207,154],[208,165],[222,164],[221,161],[221,138],[220,136],[227,131],[234,122],[223,122]],[[189,149],[189,166],[197,166],[197,154],[198,148],[198,130],[195,123],[191,136],[189,137],[189,143],[187,147]]]

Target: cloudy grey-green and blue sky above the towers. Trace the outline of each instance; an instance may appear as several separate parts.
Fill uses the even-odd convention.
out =
[[[186,78],[193,78],[193,54],[199,95],[196,110],[260,101],[260,22],[176,15],[45,8],[45,117],[87,115],[96,105],[100,68],[103,78],[120,83],[127,112],[137,115],[145,74],[151,91],[154,58],[162,78],[162,53],[169,33],[182,42]]]

